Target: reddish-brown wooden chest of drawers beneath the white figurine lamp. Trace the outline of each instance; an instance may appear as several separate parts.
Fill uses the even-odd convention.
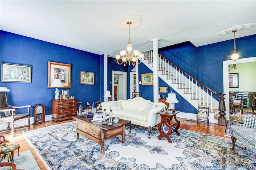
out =
[[[52,120],[59,122],[76,116],[76,101],[76,99],[52,100]]]

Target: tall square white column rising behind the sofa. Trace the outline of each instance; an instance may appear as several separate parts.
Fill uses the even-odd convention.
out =
[[[153,95],[154,101],[158,102],[158,41],[159,38],[152,39],[153,42]]]

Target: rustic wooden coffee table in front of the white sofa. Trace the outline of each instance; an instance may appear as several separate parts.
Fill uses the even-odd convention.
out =
[[[79,138],[79,134],[82,134],[86,138],[100,144],[102,154],[105,154],[105,140],[122,134],[122,143],[124,143],[125,124],[131,123],[130,121],[119,119],[118,123],[108,126],[102,125],[100,122],[91,122],[92,118],[73,117],[73,119],[76,119],[77,138]]]

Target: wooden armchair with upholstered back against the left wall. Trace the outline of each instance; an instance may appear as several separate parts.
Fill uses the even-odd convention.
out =
[[[28,113],[21,113],[21,114],[15,114],[14,112],[16,109],[20,108],[28,108]],[[26,105],[26,106],[11,106],[8,105],[7,101],[7,94],[6,91],[1,91],[0,92],[0,112],[1,112],[1,118],[0,122],[7,122],[7,129],[11,131],[11,134],[14,136],[14,122],[18,121],[19,119],[28,117],[28,125],[20,126],[20,127],[15,127],[15,128],[23,128],[23,127],[28,127],[30,129],[30,107],[31,105]],[[12,128],[10,128],[10,122],[12,123]]]

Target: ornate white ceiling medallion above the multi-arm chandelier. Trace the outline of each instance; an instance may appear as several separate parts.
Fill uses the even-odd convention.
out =
[[[134,28],[138,27],[141,23],[140,15],[134,15],[134,14],[126,14],[124,16],[118,16],[119,19],[117,20],[118,25],[120,28]],[[127,24],[127,22],[131,22],[130,25]]]

